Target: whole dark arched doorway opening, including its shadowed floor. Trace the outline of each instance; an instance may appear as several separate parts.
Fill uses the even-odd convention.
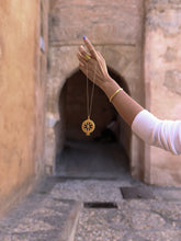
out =
[[[109,72],[128,93],[125,80],[111,68]],[[89,81],[90,91],[91,88]],[[89,137],[81,130],[87,118],[87,84],[80,70],[66,80],[59,96],[59,114],[61,125],[55,127],[58,175],[117,177],[128,173],[131,130],[97,87],[91,116],[95,130]]]

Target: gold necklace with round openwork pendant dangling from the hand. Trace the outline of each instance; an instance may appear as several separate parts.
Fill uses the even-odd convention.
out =
[[[95,124],[90,118],[91,112],[92,112],[92,103],[93,103],[95,72],[97,72],[97,67],[95,67],[95,71],[94,71],[91,97],[90,97],[90,102],[89,102],[89,83],[88,83],[89,80],[88,80],[88,65],[87,65],[87,113],[88,113],[88,118],[81,125],[81,129],[83,130],[83,133],[86,133],[87,136],[90,136],[90,134],[95,129]]]

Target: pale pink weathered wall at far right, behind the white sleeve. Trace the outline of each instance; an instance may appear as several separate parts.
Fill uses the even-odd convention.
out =
[[[146,107],[159,118],[181,119],[181,1],[147,0],[145,36]],[[149,157],[150,183],[181,185],[181,157],[154,147]]]

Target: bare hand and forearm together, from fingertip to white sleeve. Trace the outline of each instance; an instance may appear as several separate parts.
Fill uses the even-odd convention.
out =
[[[94,49],[88,38],[83,37],[83,41],[88,51],[83,46],[79,47],[79,51],[77,54],[79,68],[91,81],[94,81],[94,83],[100,87],[110,99],[120,89],[120,85],[109,76],[106,64],[102,55]],[[91,58],[86,57],[88,54]],[[132,126],[135,116],[144,110],[124,91],[120,91],[118,94],[113,97],[112,103],[122,118],[129,126]]]

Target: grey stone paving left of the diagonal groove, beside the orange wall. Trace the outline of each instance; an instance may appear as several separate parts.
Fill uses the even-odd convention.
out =
[[[69,240],[80,205],[75,200],[53,198],[47,193],[47,186],[29,196],[9,217],[0,221],[1,240]]]

